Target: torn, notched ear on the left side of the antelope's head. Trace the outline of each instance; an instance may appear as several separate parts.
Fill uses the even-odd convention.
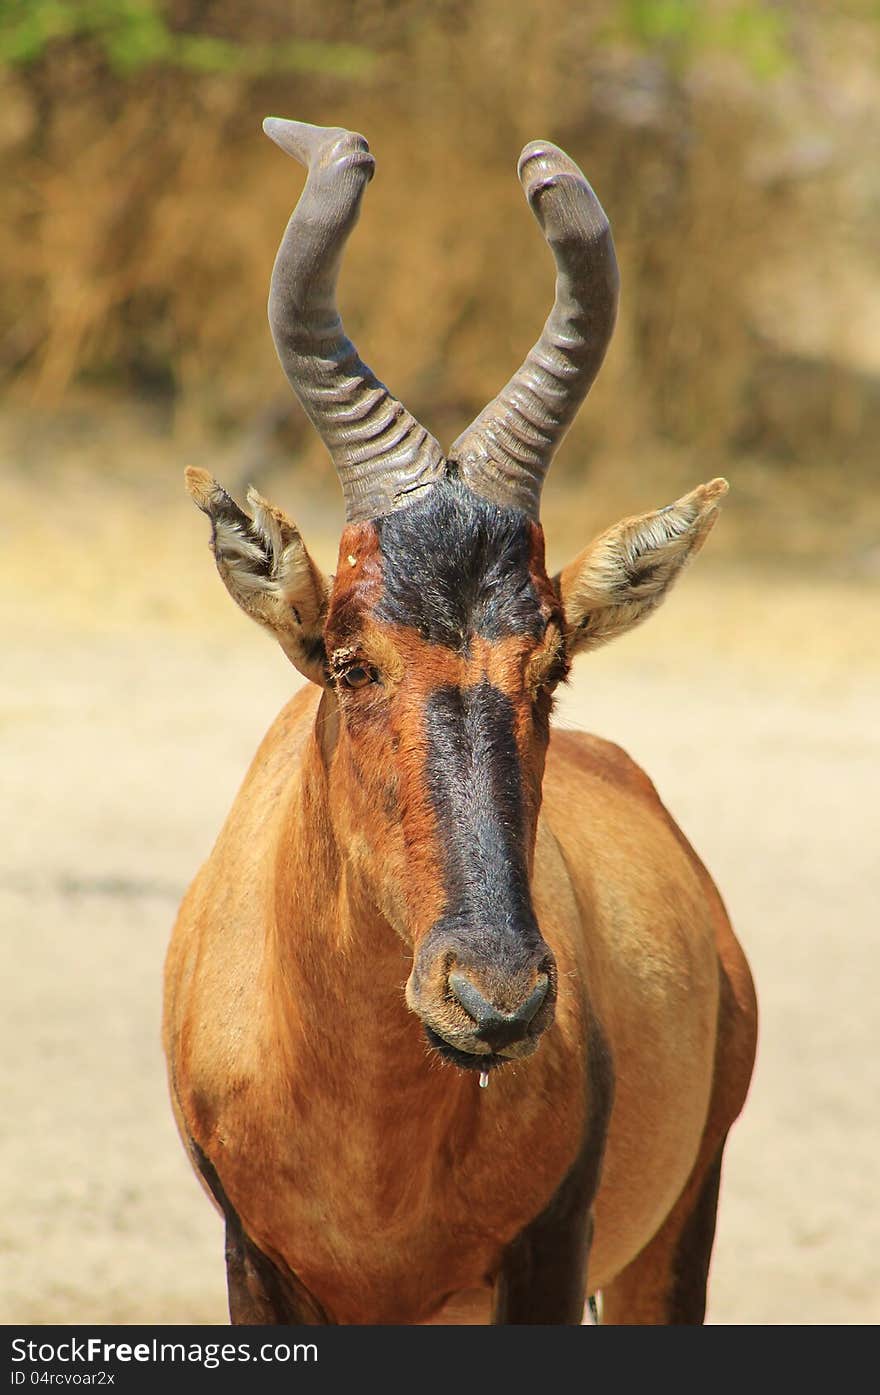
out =
[[[265,629],[301,674],[324,682],[324,619],[329,585],[300,530],[251,488],[248,518],[206,470],[185,472],[187,488],[211,519],[213,555],[226,590]]]

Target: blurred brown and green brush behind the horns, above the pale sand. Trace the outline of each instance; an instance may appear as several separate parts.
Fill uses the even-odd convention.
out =
[[[266,113],[367,134],[347,326],[452,439],[549,306],[515,176],[547,135],[623,283],[555,480],[616,508],[735,463],[715,551],[876,576],[879,36],[874,0],[6,0],[10,455],[85,438],[106,476],[173,441],[233,484],[283,463],[324,488],[266,333],[301,187]]]

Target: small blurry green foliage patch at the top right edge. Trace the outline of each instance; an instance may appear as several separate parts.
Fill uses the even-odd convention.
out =
[[[679,64],[703,53],[731,53],[761,78],[789,63],[788,21],[766,0],[621,0],[615,31],[646,47],[660,49]]]

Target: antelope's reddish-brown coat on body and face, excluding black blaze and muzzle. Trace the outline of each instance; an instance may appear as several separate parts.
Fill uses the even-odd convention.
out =
[[[715,506],[703,494],[676,505],[692,511],[697,543],[701,511]],[[644,536],[662,548],[655,520]],[[640,526],[628,520],[626,537]],[[612,629],[621,579],[607,537]],[[508,1247],[602,1116],[591,1057],[602,1038],[616,1088],[607,1140],[594,1140],[604,1165],[590,1289],[615,1321],[693,1320],[679,1314],[674,1276],[695,1243],[692,1215],[714,1215],[713,1168],[748,1089],[752,981],[718,893],[647,777],[593,737],[556,731],[545,748],[536,685],[580,631],[576,598],[566,605],[544,573],[537,527],[531,543],[544,636],[473,635],[455,651],[377,618],[377,530],[346,529],[322,626],[328,663],[350,649],[384,682],[349,692],[337,679],[289,703],[172,939],[165,1045],[181,1134],[248,1243],[332,1321],[485,1311]],[[671,545],[679,568],[681,531]],[[584,565],[595,593],[602,573],[589,555]],[[639,615],[640,585],[623,596],[622,624]],[[487,1091],[428,1049],[404,996],[443,912],[425,703],[484,681],[513,711],[531,901],[558,975],[540,1048],[494,1071]]]

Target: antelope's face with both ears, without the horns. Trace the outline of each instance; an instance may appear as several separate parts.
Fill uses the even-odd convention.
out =
[[[234,598],[325,688],[317,737],[346,896],[413,953],[409,1006],[466,1069],[530,1055],[556,970],[531,905],[551,695],[644,619],[699,551],[722,480],[625,519],[559,578],[538,525],[456,478],[347,527],[332,586],[279,509],[187,474]]]

